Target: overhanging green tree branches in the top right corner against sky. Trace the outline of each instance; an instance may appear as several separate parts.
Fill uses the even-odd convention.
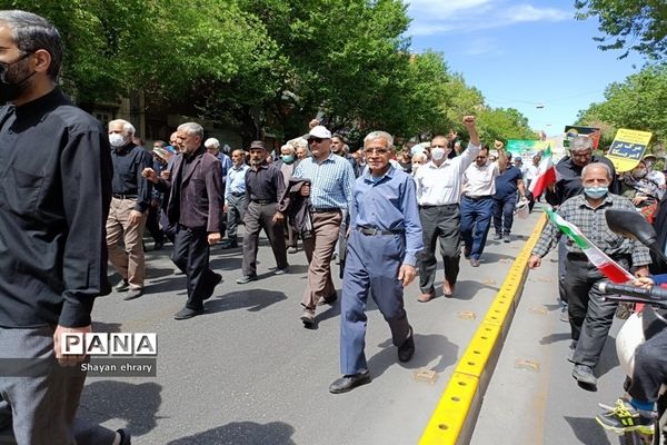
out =
[[[667,57],[667,3],[664,0],[576,0],[580,20],[598,17],[599,30],[608,37],[595,38],[604,51],[630,50],[651,59]]]

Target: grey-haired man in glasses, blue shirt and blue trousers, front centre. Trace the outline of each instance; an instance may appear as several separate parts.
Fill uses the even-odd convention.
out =
[[[404,287],[416,276],[417,254],[424,248],[415,182],[389,164],[394,138],[372,131],[364,140],[367,171],[355,182],[340,316],[342,377],[329,386],[334,394],[370,382],[364,354],[366,301],[370,293],[389,323],[398,359],[415,354],[414,333],[404,308]]]

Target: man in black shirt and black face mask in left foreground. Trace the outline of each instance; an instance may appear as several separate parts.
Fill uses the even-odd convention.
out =
[[[0,11],[0,103],[11,102],[0,107],[0,359],[48,365],[22,375],[0,360],[0,429],[13,421],[19,445],[73,443],[86,376],[54,362],[83,358],[62,355],[61,336],[90,333],[94,298],[110,291],[109,140],[56,88],[61,61],[51,23]],[[129,443],[106,432],[94,443]]]

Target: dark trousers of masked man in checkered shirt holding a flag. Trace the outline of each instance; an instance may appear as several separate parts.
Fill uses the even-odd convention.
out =
[[[627,260],[617,259],[617,263],[628,268]],[[606,278],[588,260],[568,256],[565,267],[567,275],[563,285],[567,294],[573,340],[577,342],[573,362],[594,367],[603,354],[618,301],[603,300],[596,284]]]

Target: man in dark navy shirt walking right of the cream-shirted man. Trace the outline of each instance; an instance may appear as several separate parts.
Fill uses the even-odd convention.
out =
[[[521,170],[511,165],[511,152],[507,151],[507,161],[499,167],[500,174],[496,177],[496,195],[494,195],[494,227],[496,227],[494,239],[509,243],[514,210],[517,205],[517,190],[521,194],[521,199],[526,199],[526,187]]]

